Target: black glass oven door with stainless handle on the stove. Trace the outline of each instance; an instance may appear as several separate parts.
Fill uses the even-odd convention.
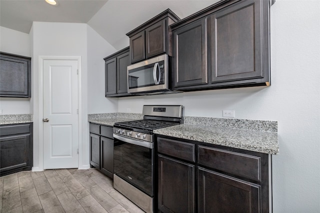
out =
[[[114,174],[153,197],[153,143],[113,134]]]

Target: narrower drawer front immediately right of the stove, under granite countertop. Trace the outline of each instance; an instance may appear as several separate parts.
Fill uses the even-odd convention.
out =
[[[158,152],[172,157],[195,162],[195,145],[165,138],[157,139]]]

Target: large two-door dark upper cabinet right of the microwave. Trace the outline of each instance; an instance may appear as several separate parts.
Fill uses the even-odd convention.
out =
[[[270,2],[219,1],[170,25],[174,90],[270,85]]]

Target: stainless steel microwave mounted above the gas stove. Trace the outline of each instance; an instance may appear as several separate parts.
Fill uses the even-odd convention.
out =
[[[168,55],[160,55],[127,66],[128,93],[171,93]]]

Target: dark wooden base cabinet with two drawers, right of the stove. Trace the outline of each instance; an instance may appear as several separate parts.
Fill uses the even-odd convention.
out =
[[[157,137],[158,211],[268,213],[270,155]]]

